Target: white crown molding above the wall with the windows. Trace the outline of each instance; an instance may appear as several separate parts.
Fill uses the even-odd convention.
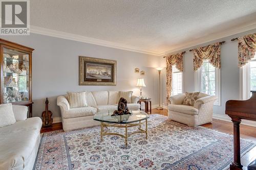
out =
[[[203,43],[207,43],[210,41],[214,41],[214,40],[221,39],[224,37],[232,36],[232,35],[239,34],[242,32],[249,31],[249,30],[253,30],[253,29],[256,29],[256,20],[254,20],[250,23],[246,23],[244,25],[240,25],[238,27],[229,29],[229,30],[225,30],[225,31],[218,32],[215,34],[210,34],[210,35],[200,37],[200,38],[192,40],[192,41],[187,41],[186,43],[183,43],[180,45],[176,45],[173,48],[170,48],[170,50],[167,50],[166,52],[164,52],[164,54],[177,52],[177,51],[189,48],[189,47],[193,47],[196,45],[200,45]]]

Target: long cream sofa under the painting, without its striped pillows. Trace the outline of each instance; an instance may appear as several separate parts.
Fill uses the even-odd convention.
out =
[[[119,91],[92,91],[87,92],[88,107],[70,108],[68,95],[61,95],[57,98],[57,105],[60,108],[62,127],[64,131],[86,128],[99,125],[93,120],[95,113],[99,111],[117,110]],[[139,110],[139,98],[132,96],[132,103],[128,103],[129,110]]]

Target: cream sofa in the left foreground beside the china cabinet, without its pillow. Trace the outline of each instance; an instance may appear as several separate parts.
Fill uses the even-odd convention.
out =
[[[16,122],[0,128],[0,169],[33,169],[42,121],[27,119],[28,107],[13,105]]]

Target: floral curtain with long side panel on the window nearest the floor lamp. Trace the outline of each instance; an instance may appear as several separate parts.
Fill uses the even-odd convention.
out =
[[[183,55],[185,52],[166,56],[166,101],[169,104],[169,97],[172,94],[173,65],[183,72]]]

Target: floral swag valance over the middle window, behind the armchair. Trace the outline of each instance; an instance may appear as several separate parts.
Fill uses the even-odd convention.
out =
[[[194,70],[196,71],[203,64],[203,60],[209,60],[209,62],[216,68],[221,67],[221,44],[217,42],[211,45],[195,48],[194,52]]]

